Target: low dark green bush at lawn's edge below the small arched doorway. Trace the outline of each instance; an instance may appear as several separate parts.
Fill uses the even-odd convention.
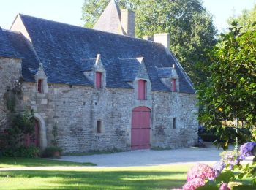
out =
[[[3,152],[3,156],[7,157],[23,157],[23,158],[37,158],[39,156],[39,148],[37,147],[19,147],[15,150],[6,150]]]

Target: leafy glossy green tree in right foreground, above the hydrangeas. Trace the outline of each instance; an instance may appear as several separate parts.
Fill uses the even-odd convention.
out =
[[[210,77],[197,93],[200,120],[208,128],[217,128],[220,139],[227,148],[227,127],[223,121],[256,126],[256,27],[248,28],[233,23],[227,34],[222,34],[218,44],[209,53],[211,66],[206,68]]]

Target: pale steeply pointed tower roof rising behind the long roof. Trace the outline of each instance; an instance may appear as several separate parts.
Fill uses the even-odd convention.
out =
[[[116,1],[111,0],[100,15],[97,23],[94,25],[95,30],[108,31],[115,34],[125,34],[121,26],[121,12],[116,4]]]

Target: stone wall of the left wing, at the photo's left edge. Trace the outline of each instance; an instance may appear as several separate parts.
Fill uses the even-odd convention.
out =
[[[20,77],[20,59],[0,58],[0,131],[7,126],[7,91]]]

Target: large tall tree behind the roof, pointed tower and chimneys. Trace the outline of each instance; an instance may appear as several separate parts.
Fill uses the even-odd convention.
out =
[[[216,44],[217,30],[211,15],[200,0],[117,0],[121,8],[128,7],[136,13],[137,37],[170,33],[170,50],[184,66],[197,85],[206,75],[197,63],[207,64],[206,50]],[[85,0],[83,18],[85,26],[92,28],[108,4],[107,0]],[[199,65],[200,66],[200,65]]]

